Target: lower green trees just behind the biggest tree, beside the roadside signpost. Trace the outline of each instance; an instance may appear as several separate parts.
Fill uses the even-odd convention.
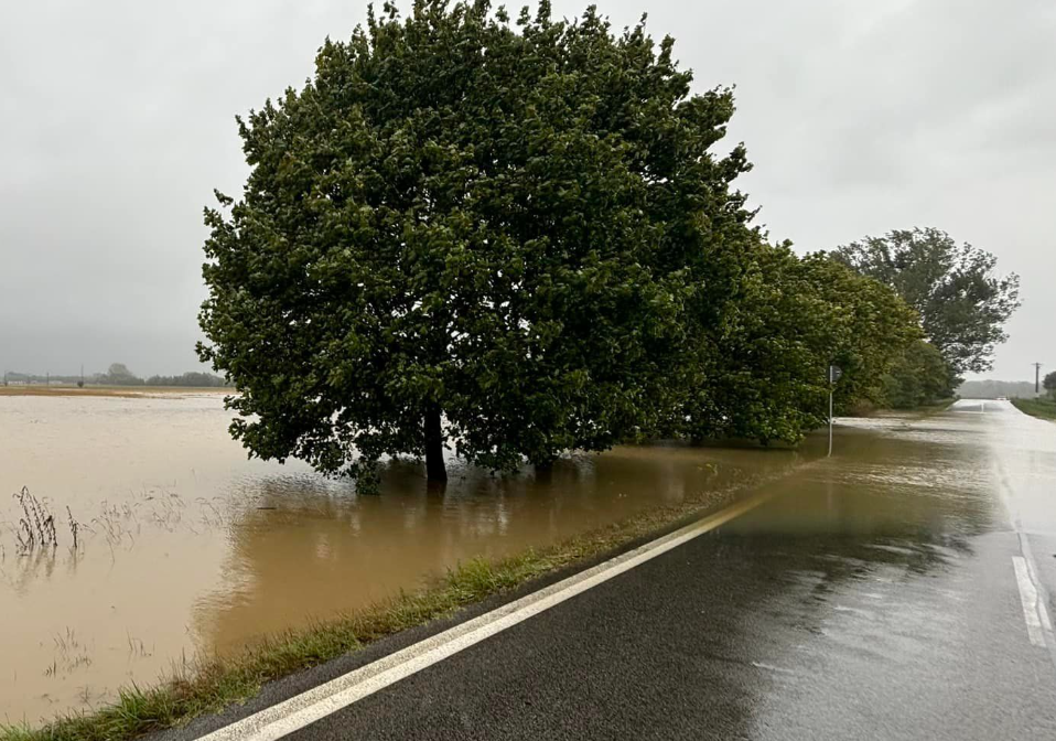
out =
[[[688,433],[796,443],[826,423],[830,364],[842,410],[883,404],[884,379],[920,336],[891,288],[817,253],[761,244],[725,315],[714,372],[690,399]]]

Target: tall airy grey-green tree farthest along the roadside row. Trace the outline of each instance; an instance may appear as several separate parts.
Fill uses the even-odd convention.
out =
[[[935,228],[891,232],[838,248],[837,259],[894,288],[920,313],[924,332],[953,374],[993,365],[1004,323],[1020,307],[1020,278],[998,259]]]

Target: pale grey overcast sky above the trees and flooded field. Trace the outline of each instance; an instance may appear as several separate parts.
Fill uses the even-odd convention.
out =
[[[407,2],[401,2],[407,7]],[[510,3],[511,8],[519,3]],[[554,2],[558,14],[585,4]],[[1023,278],[992,375],[1056,368],[1056,2],[601,0],[643,10],[700,89],[774,238],[937,226]],[[0,366],[197,367],[202,207],[246,175],[234,116],[311,74],[360,0],[0,2]]]

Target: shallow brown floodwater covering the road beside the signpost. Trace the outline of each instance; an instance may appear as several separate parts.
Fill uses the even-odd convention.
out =
[[[837,455],[772,484],[775,497],[725,531],[941,545],[1006,526],[981,420],[848,420]]]

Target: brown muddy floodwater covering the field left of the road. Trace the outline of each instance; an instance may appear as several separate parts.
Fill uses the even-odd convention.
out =
[[[196,654],[363,608],[460,561],[750,491],[821,452],[820,439],[621,448],[546,479],[452,465],[443,492],[403,462],[380,496],[357,496],[300,463],[247,460],[229,417],[216,393],[0,397],[0,721],[95,707]],[[54,516],[57,547],[20,548],[23,486]]]

